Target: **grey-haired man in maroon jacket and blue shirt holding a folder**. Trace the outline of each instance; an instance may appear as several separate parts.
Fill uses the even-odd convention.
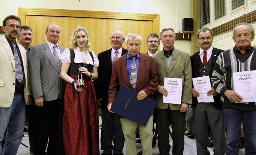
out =
[[[113,63],[112,76],[108,91],[108,110],[111,111],[112,104],[122,85],[138,92],[138,100],[152,96],[158,86],[158,75],[154,59],[149,55],[140,53],[141,37],[137,34],[128,34],[125,38],[128,53],[118,58]],[[126,155],[136,155],[136,129],[140,129],[143,155],[152,154],[152,128],[153,116],[150,116],[146,126],[142,126],[128,120],[120,119],[127,147]]]

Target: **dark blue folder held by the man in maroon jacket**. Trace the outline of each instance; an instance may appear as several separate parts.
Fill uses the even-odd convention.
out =
[[[111,111],[142,126],[146,126],[157,102],[148,97],[139,101],[137,96],[138,92],[122,85]]]

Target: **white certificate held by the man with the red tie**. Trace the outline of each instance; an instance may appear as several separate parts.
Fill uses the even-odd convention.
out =
[[[199,92],[197,97],[198,103],[214,102],[213,95],[207,95],[207,92],[212,89],[209,76],[193,78],[193,85],[196,91]]]

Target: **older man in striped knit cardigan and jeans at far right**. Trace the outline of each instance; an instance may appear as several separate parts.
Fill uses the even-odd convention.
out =
[[[226,123],[227,155],[238,155],[241,123],[244,128],[247,155],[256,154],[256,102],[244,102],[234,91],[232,73],[256,70],[256,48],[251,46],[254,27],[240,23],[233,29],[235,47],[224,51],[216,61],[212,74],[214,90],[221,94]]]

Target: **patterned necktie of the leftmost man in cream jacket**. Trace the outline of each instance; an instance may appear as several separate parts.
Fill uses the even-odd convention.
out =
[[[13,47],[13,55],[15,60],[15,72],[16,72],[16,79],[21,82],[23,80],[23,73],[22,73],[22,67],[20,63],[20,57],[18,55],[18,51],[16,49],[16,45],[12,44]]]

